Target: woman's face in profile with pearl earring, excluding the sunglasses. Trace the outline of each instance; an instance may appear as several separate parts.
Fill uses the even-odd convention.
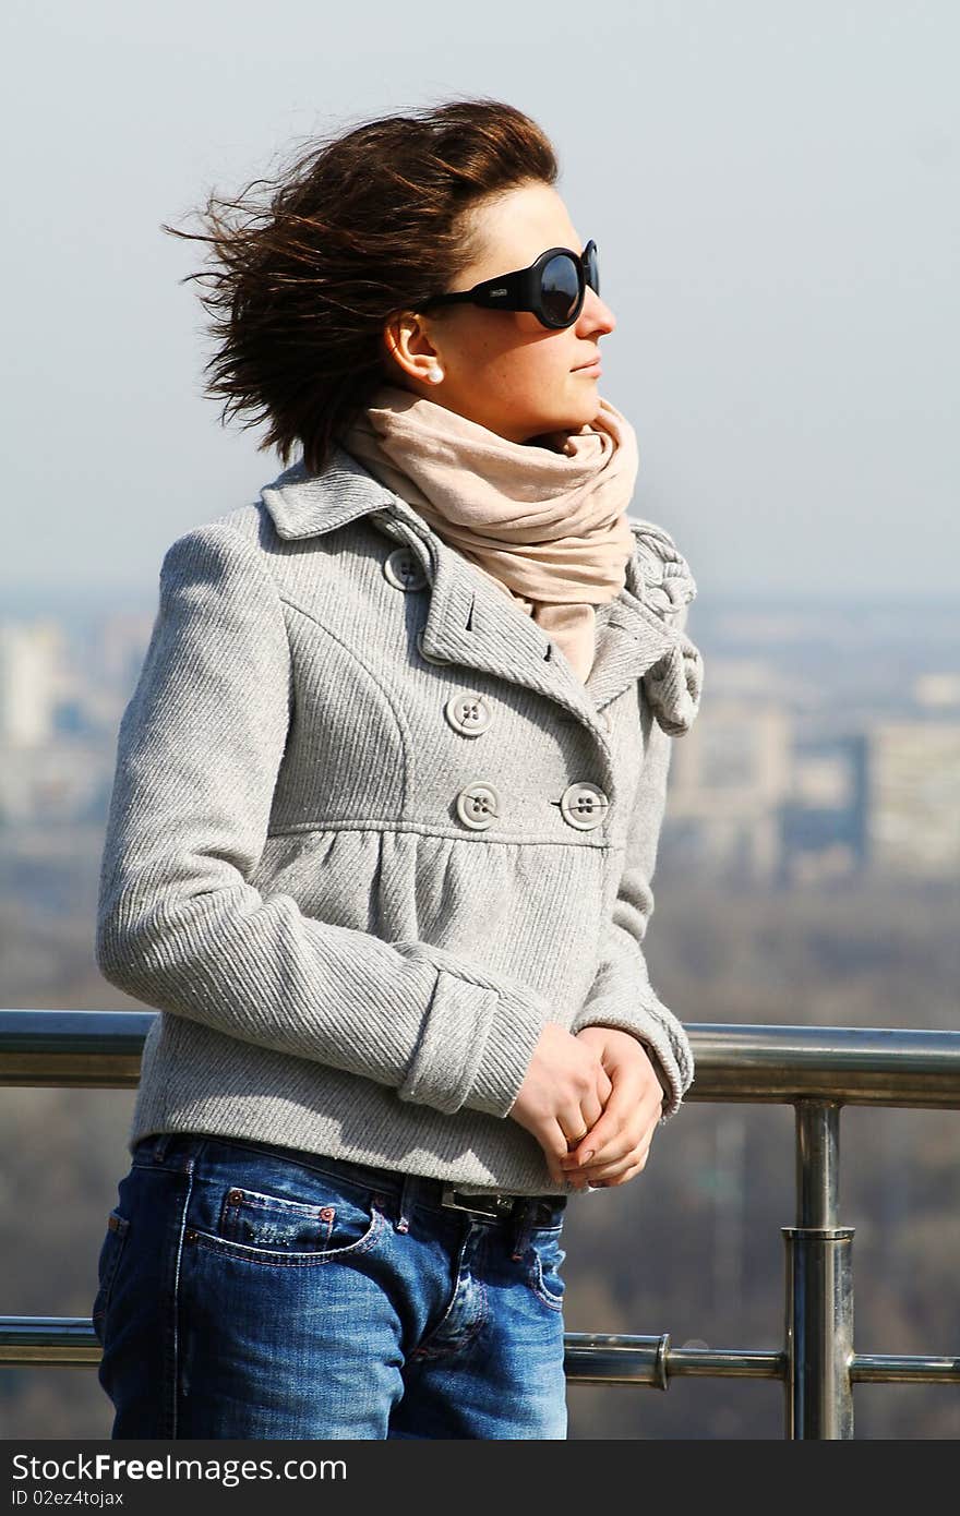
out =
[[[544,183],[523,185],[479,208],[473,224],[482,253],[450,290],[526,268],[547,247],[584,249],[561,197]],[[599,394],[598,376],[576,368],[599,356],[599,340],[614,326],[613,311],[590,287],[576,321],[560,332],[541,326],[532,311],[464,303],[406,312],[384,329],[393,356],[390,382],[513,443],[579,431],[596,415]],[[437,365],[443,379],[431,384]]]

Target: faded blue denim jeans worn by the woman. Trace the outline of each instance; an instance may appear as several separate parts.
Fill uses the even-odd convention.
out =
[[[112,1437],[566,1437],[566,1196],[481,1217],[444,1190],[146,1137],[91,1313]]]

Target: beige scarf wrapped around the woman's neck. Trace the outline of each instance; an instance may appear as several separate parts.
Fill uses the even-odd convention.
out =
[[[476,564],[560,646],[579,679],[595,605],[623,588],[637,437],[608,400],[578,432],[511,443],[447,406],[384,384],[343,446]]]

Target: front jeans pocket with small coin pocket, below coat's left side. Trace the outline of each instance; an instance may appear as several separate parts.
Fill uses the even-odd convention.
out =
[[[312,1199],[258,1187],[255,1181],[227,1182],[215,1205],[211,1231],[191,1225],[190,1240],[200,1248],[250,1263],[320,1264],[369,1252],[385,1233],[387,1217],[375,1192],[362,1186],[317,1176]]]

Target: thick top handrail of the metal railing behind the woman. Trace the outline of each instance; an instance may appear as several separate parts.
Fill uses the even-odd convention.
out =
[[[0,1010],[0,1084],[135,1088],[158,1011]],[[687,1022],[687,1101],[960,1108],[960,1031]]]

